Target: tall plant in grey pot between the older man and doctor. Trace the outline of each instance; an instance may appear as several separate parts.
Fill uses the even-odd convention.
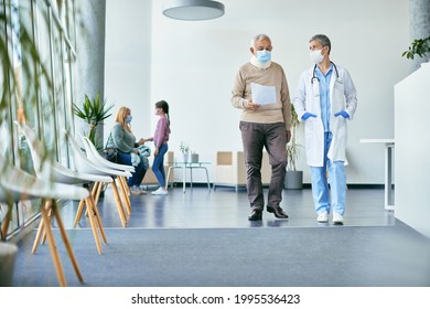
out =
[[[284,188],[286,189],[302,189],[303,188],[303,171],[297,170],[297,161],[300,150],[303,147],[297,142],[297,132],[299,127],[299,117],[291,105],[291,139],[287,143],[287,173]]]

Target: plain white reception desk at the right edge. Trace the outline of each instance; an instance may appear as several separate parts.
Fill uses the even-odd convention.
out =
[[[396,219],[430,237],[430,63],[395,85]]]

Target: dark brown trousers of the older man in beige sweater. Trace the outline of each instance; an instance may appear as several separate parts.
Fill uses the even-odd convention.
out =
[[[240,121],[244,159],[247,169],[248,200],[252,210],[262,210],[265,196],[261,183],[262,149],[266,148],[271,166],[269,184],[269,207],[279,206],[282,201],[287,169],[287,130],[283,122],[255,124]]]

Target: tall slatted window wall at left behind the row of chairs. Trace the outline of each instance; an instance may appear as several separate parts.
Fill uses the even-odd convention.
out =
[[[0,149],[17,167],[35,174],[26,140],[14,125],[19,120],[37,132],[54,160],[68,166],[63,131],[73,124],[74,0],[0,0],[0,9],[7,46],[2,57],[8,51],[11,60],[1,62],[1,96],[9,104],[8,110],[1,110]],[[39,209],[37,200],[15,204],[8,234],[37,217]],[[4,214],[1,205],[0,220]]]

